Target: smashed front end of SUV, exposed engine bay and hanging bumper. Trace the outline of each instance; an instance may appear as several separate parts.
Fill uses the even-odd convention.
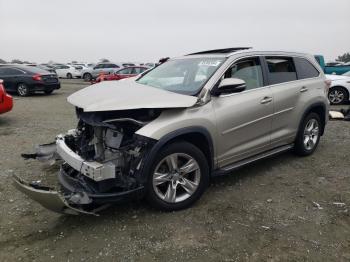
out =
[[[59,213],[96,214],[108,205],[142,197],[142,174],[147,152],[155,140],[135,132],[157,118],[161,110],[133,109],[83,112],[77,108],[76,129],[23,154],[52,163],[60,161],[59,189],[27,183],[14,177],[15,186],[42,206]]]

